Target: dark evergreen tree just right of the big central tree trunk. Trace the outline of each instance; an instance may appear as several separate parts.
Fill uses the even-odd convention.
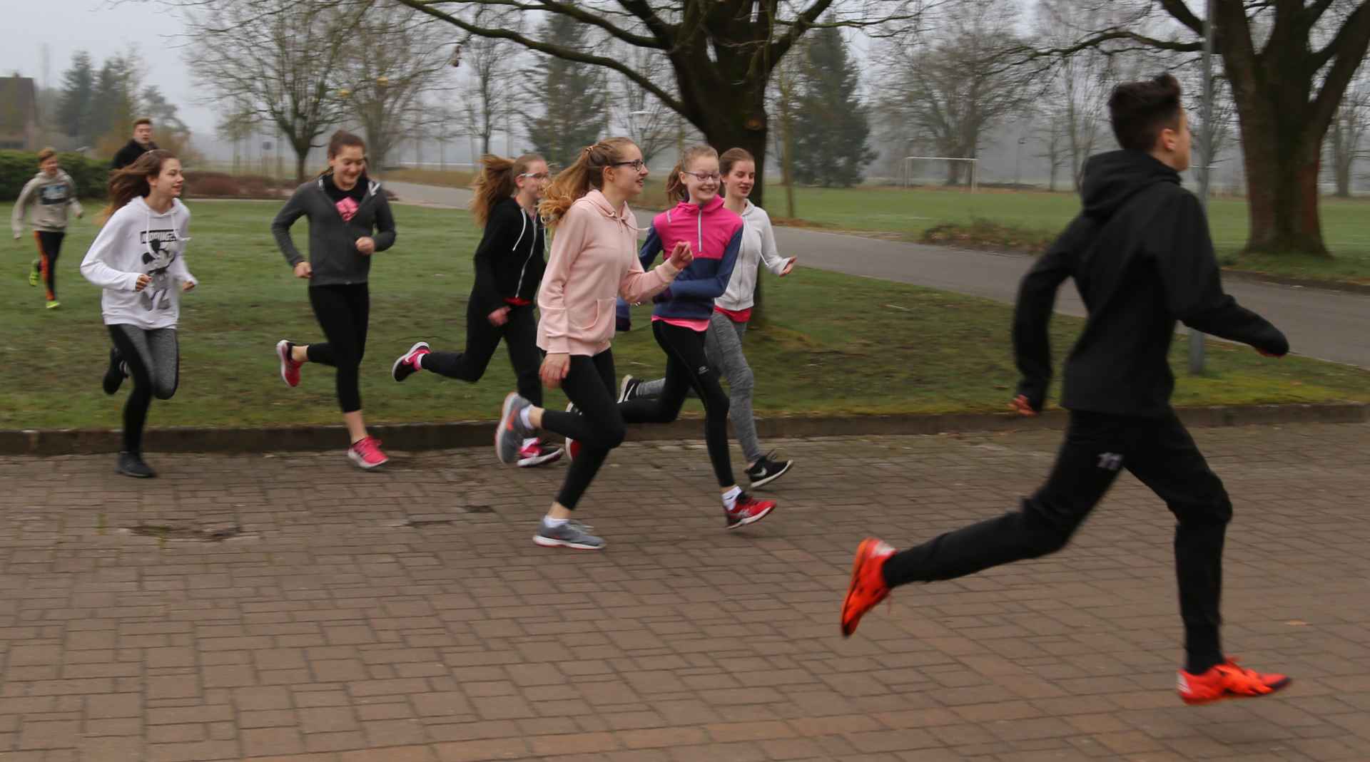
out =
[[[825,187],[856,185],[875,152],[866,142],[870,119],[856,97],[859,81],[841,30],[815,30],[804,56],[795,120],[795,179]]]

